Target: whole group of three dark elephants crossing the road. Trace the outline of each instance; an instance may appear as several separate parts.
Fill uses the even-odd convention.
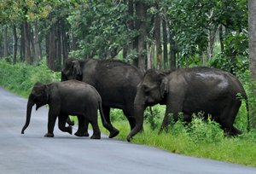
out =
[[[143,112],[155,104],[166,105],[166,113],[160,131],[169,123],[169,114],[174,121],[178,113],[190,121],[193,113],[203,112],[206,117],[219,123],[230,136],[241,134],[233,125],[241,106],[241,98],[247,95],[240,81],[230,73],[210,67],[194,67],[162,72],[150,69],[143,73],[137,67],[123,61],[68,59],[61,71],[61,82],[35,84],[28,98],[26,124],[29,125],[32,107],[36,109],[49,105],[48,132],[54,136],[55,120],[61,131],[72,134],[72,126],[66,126],[68,115],[76,115],[79,129],[75,136],[89,136],[88,124],[92,125],[90,138],[100,139],[97,123],[100,111],[102,125],[109,131],[109,138],[117,136],[117,130],[110,121],[110,108],[123,110],[131,126],[126,137],[131,141],[143,130]]]

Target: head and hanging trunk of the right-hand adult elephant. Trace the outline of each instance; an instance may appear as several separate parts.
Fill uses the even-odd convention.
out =
[[[143,129],[145,108],[154,106],[157,103],[165,103],[166,93],[168,92],[167,83],[166,74],[150,69],[145,73],[142,82],[137,85],[137,95],[134,100],[136,125],[127,136],[128,142],[130,142],[131,136],[136,135],[138,131]]]

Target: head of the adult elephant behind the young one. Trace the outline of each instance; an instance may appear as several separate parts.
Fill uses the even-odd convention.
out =
[[[68,59],[65,68],[61,71],[61,81],[69,79],[82,79],[80,62],[77,59]]]

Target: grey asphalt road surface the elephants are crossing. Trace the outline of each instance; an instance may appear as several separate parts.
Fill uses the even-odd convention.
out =
[[[26,102],[0,87],[0,173],[256,173],[253,167],[171,154],[107,136],[91,140],[68,135],[56,125],[55,137],[47,138],[47,107],[32,111],[31,123],[22,135]]]

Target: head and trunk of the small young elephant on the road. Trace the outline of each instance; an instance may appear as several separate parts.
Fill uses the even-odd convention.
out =
[[[28,97],[27,106],[26,106],[26,124],[22,128],[21,133],[24,134],[27,126],[30,123],[32,107],[36,104],[36,110],[39,107],[44,106],[49,101],[49,89],[47,85],[36,83],[32,88],[32,92]]]

